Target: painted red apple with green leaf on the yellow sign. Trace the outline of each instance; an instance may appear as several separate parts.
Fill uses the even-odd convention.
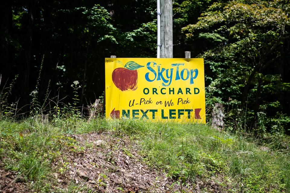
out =
[[[123,64],[121,61],[118,63]],[[116,68],[112,73],[114,85],[121,91],[134,91],[137,89],[138,72],[137,69],[143,66],[136,62],[127,62],[124,68]]]

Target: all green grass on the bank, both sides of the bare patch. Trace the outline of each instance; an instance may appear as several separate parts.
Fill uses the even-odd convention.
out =
[[[0,163],[5,170],[15,171],[18,181],[29,184],[30,189],[50,192],[57,184],[53,173],[61,172],[52,166],[53,160],[64,147],[77,149],[70,136],[107,130],[113,137],[129,136],[137,143],[143,161],[167,172],[179,192],[188,187],[199,192],[290,192],[288,151],[262,150],[257,140],[218,132],[207,124],[101,118],[90,122],[54,119],[42,124],[35,119],[16,122],[2,118]],[[85,190],[72,181],[59,192],[81,188]]]

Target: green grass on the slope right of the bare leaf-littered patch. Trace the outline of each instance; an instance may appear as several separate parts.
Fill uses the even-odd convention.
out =
[[[260,150],[251,139],[202,124],[127,120],[114,124],[141,144],[140,153],[149,164],[164,168],[176,180],[183,162],[188,181],[217,182],[219,191],[289,191],[289,155]]]

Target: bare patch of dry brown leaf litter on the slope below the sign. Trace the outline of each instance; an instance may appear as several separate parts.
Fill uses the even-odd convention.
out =
[[[55,167],[60,162],[70,163],[63,174],[55,173],[61,187],[65,188],[71,179],[96,192],[171,192],[171,180],[164,172],[151,170],[140,161],[141,157],[133,150],[135,145],[127,137],[112,137],[112,133],[74,137],[85,150],[63,151],[66,160],[55,163]]]

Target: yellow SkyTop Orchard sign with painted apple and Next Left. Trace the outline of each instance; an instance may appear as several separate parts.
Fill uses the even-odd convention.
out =
[[[205,123],[203,58],[106,58],[106,117]]]

